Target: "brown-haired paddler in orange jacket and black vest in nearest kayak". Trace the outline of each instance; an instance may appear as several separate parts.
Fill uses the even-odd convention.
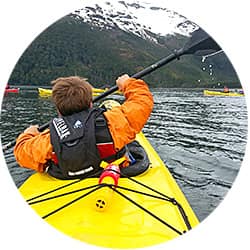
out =
[[[116,84],[126,100],[112,110],[93,108],[92,86],[71,76],[52,81],[52,100],[58,117],[50,129],[28,127],[16,140],[14,155],[20,166],[48,172],[59,179],[85,178],[100,171],[100,161],[126,154],[153,109],[147,84],[127,74]]]

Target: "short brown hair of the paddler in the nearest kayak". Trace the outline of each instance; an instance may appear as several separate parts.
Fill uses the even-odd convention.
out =
[[[51,82],[52,100],[61,115],[72,115],[90,107],[92,86],[79,76],[60,77]]]

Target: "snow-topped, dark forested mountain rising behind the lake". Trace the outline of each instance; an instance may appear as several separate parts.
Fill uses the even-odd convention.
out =
[[[113,85],[181,48],[198,28],[166,7],[141,1],[84,1],[83,8],[48,27],[32,42],[11,74],[13,85],[48,85],[68,75],[96,87]],[[153,87],[238,86],[225,54],[184,56],[144,78]]]

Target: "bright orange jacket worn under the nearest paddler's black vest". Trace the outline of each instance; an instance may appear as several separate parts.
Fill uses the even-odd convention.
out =
[[[153,97],[143,80],[129,78],[122,89],[126,101],[104,113],[115,148],[133,141],[153,109]],[[16,140],[14,155],[20,166],[43,172],[52,158],[50,132],[22,133]]]

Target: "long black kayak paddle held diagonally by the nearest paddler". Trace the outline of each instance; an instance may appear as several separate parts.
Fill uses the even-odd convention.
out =
[[[170,54],[167,57],[162,58],[158,62],[148,66],[147,68],[143,69],[142,71],[139,71],[132,75],[133,78],[141,78],[145,75],[150,74],[151,72],[155,71],[156,69],[166,65],[167,63],[179,59],[182,55],[188,55],[188,54],[197,54],[197,55],[207,55],[216,51],[221,50],[220,46],[211,38],[203,29],[199,28],[195,30],[192,34],[188,42],[184,45],[183,48],[179,50],[175,50],[172,54]],[[97,102],[106,96],[114,93],[118,90],[118,87],[115,85],[102,93],[101,95],[95,97],[93,99],[93,102]],[[40,132],[44,131],[49,127],[50,122],[47,122],[43,125],[41,125],[38,130]],[[16,140],[7,143],[4,145],[3,151],[13,147],[16,143]]]

